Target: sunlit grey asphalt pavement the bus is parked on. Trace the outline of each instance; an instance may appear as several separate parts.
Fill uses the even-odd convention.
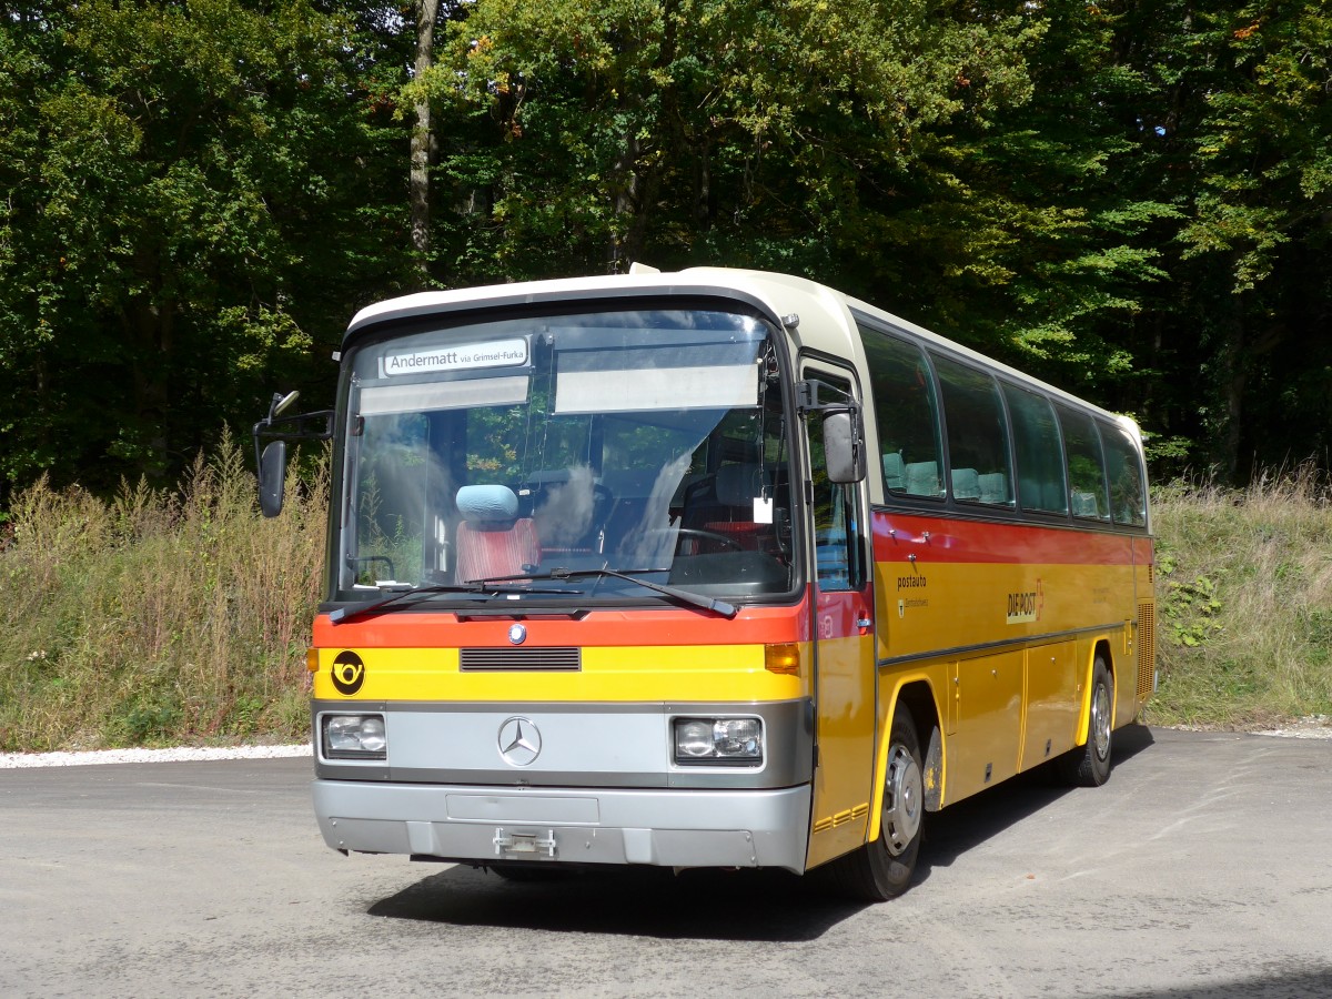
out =
[[[0,770],[4,996],[1332,996],[1332,741],[1131,727],[930,817],[867,906],[328,850],[309,759]]]

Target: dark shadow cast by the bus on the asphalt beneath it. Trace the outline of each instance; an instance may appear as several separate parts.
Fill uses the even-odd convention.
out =
[[[1116,731],[1116,766],[1151,743],[1146,727]],[[1046,773],[1034,771],[930,815],[910,890],[920,891],[931,868],[948,867],[1070,790],[1056,786]],[[368,912],[505,930],[799,943],[821,938],[868,906],[831,895],[817,875],[798,878],[785,871],[674,874],[654,867],[594,867],[551,872],[543,880],[511,882],[458,864],[374,902]]]

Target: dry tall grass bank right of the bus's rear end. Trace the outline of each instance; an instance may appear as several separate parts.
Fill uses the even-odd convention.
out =
[[[1160,687],[1148,719],[1255,727],[1332,714],[1332,493],[1305,466],[1158,490]]]

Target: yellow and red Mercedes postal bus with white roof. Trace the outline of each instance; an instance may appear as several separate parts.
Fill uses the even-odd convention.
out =
[[[1134,422],[830,288],[422,293],[340,362],[309,653],[336,850],[829,864],[882,899],[924,813],[1104,782],[1155,686]]]

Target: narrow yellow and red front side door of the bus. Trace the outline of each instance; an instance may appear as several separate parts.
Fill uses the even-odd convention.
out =
[[[850,372],[806,366],[802,377],[854,392]],[[874,593],[868,571],[864,484],[829,481],[823,428],[805,420],[815,545],[813,587],[815,743],[814,814],[806,866],[864,842],[874,782]]]

